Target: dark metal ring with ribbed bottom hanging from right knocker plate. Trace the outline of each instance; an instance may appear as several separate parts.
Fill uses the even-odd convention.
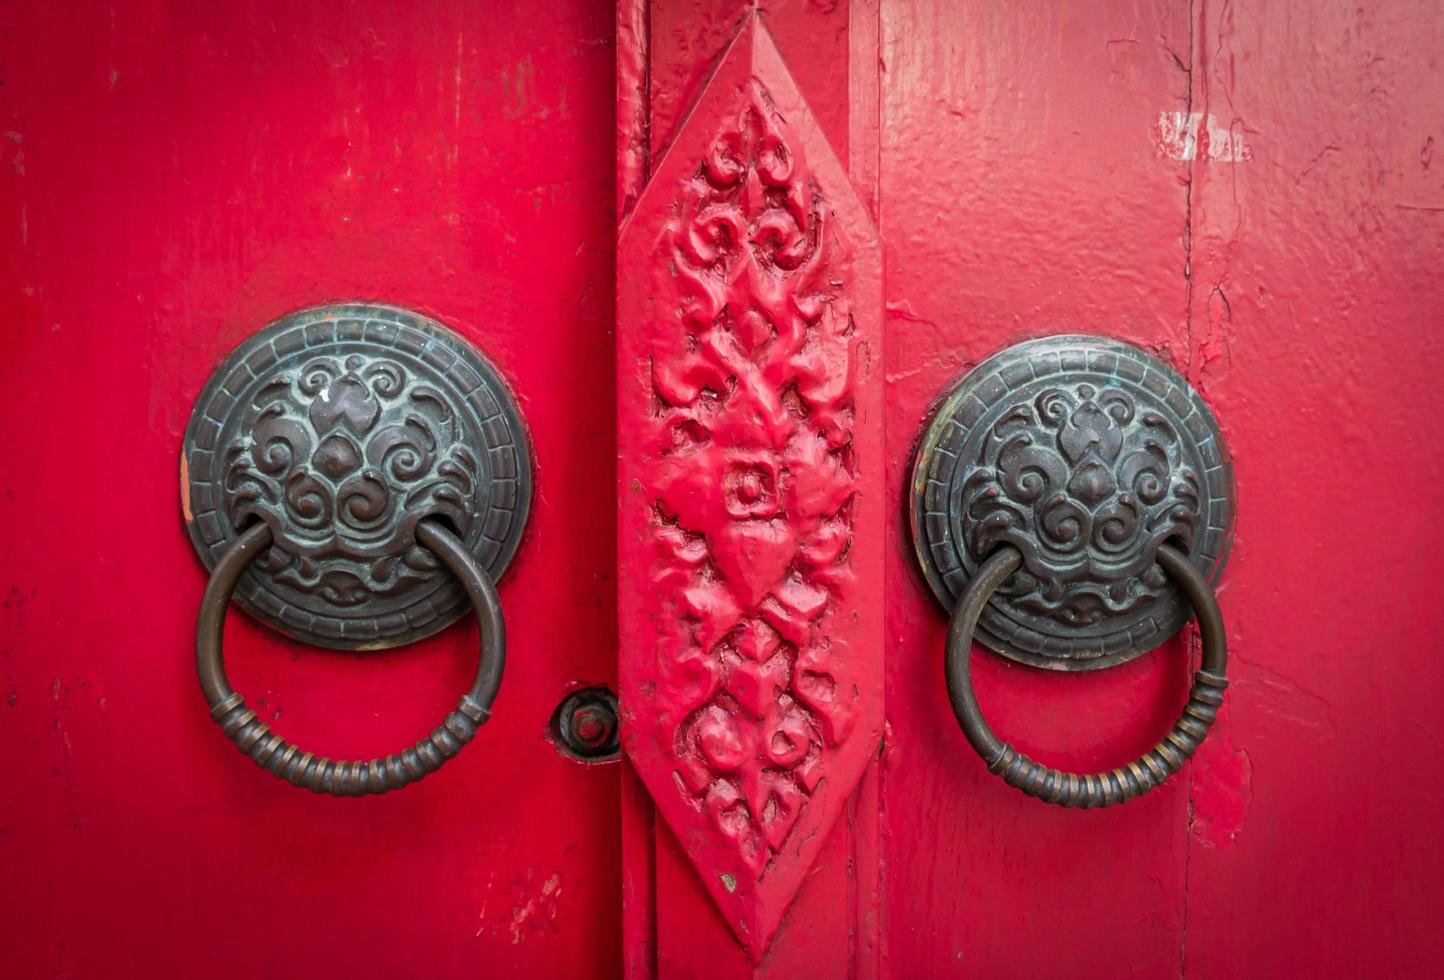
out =
[[[1199,632],[1203,636],[1203,662],[1193,675],[1193,687],[1188,690],[1188,703],[1184,704],[1183,714],[1158,745],[1136,762],[1109,772],[1080,775],[1040,765],[1002,742],[983,720],[978,699],[973,696],[969,662],[973,628],[993,592],[1021,564],[1022,554],[1017,548],[1011,546],[998,548],[967,582],[953,608],[953,619],[947,629],[947,696],[953,701],[953,713],[963,727],[963,735],[988,764],[989,772],[1001,775],[1009,787],[1017,787],[1044,802],[1056,802],[1060,807],[1110,807],[1144,795],[1183,768],[1209,735],[1213,719],[1219,714],[1219,706],[1223,704],[1223,688],[1229,684],[1225,678],[1229,649],[1223,613],[1219,611],[1213,589],[1183,551],[1167,544],[1158,548],[1158,564],[1193,603]]]

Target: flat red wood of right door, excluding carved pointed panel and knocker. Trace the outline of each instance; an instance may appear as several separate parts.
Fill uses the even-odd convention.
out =
[[[619,9],[625,211],[754,6]],[[888,726],[757,963],[729,955],[638,785],[624,804],[628,973],[1428,976],[1444,595],[1418,546],[1444,507],[1444,450],[1425,434],[1444,401],[1440,12],[755,9],[887,257]],[[1099,813],[1027,800],[970,755],[902,520],[933,398],[988,354],[1064,329],[1177,365],[1239,476],[1220,725],[1171,785]],[[1089,675],[982,652],[979,696],[1030,753],[1109,766],[1177,714],[1193,645]],[[872,915],[827,883],[842,867],[872,895],[849,852],[865,813],[881,821],[865,846],[881,847]],[[829,942],[840,932],[853,945]]]

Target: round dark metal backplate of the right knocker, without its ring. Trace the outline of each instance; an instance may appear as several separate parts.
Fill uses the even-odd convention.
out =
[[[911,520],[949,612],[1001,546],[1021,554],[978,639],[1035,667],[1092,670],[1188,618],[1160,546],[1217,580],[1233,469],[1207,406],[1167,364],[1119,341],[1050,336],[988,358],[946,395],[914,460]]]

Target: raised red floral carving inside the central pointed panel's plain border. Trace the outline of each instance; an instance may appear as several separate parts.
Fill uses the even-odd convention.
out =
[[[761,876],[853,727],[830,655],[858,491],[856,344],[830,212],[765,94],[667,227],[677,323],[651,361],[657,589],[680,596],[677,789]]]

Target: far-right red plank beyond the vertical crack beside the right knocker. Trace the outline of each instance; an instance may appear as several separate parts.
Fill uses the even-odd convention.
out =
[[[1196,39],[1194,111],[1246,152],[1191,167],[1190,367],[1239,463],[1239,537],[1183,968],[1432,976],[1444,12],[1209,4]]]

